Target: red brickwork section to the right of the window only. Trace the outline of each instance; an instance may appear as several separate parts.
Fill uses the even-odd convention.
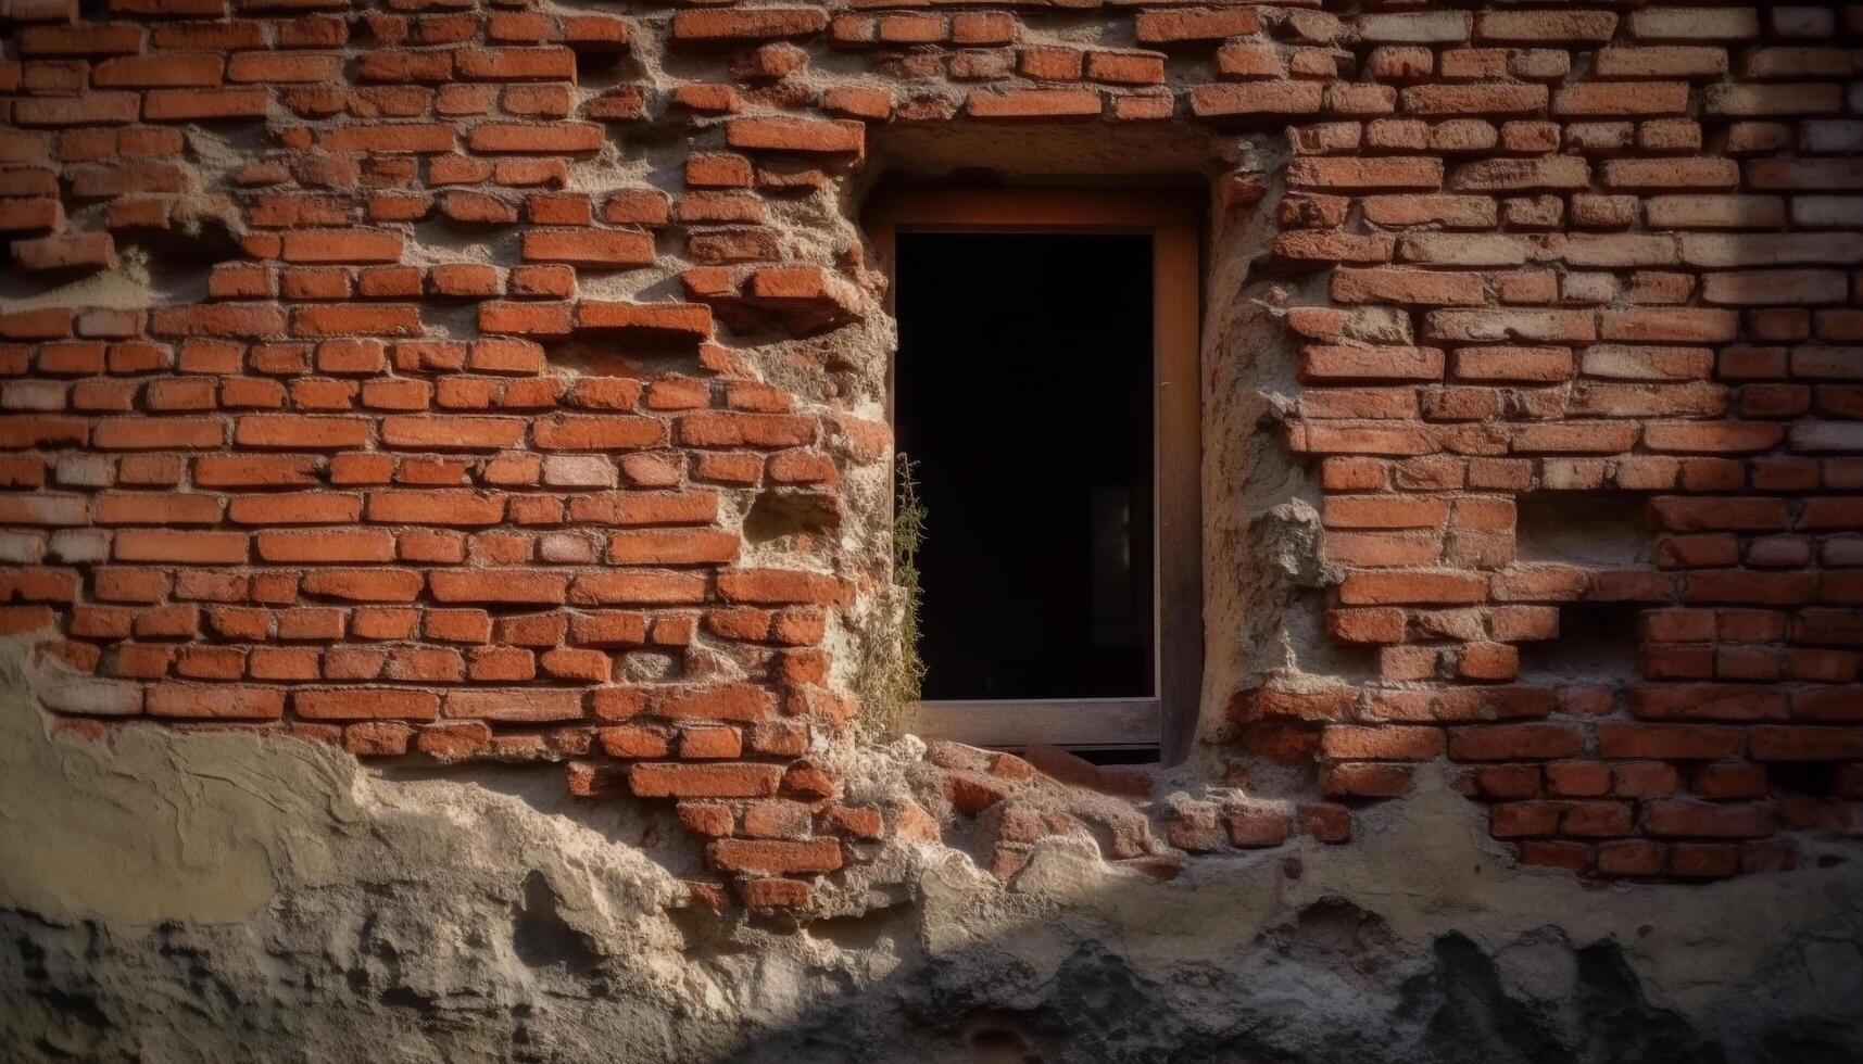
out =
[[[1859,827],[1854,764],[1794,775],[1863,736],[1863,216],[1831,212],[1863,190],[1839,84],[1859,28],[1358,19],[1371,84],[1332,97],[1354,121],[1295,130],[1278,252],[1339,263],[1330,307],[1287,313],[1289,442],[1323,458],[1328,628],[1382,682],[1233,706],[1319,723],[1325,794],[1397,796],[1448,757],[1526,861],[1606,876],[1777,868],[1781,831]],[[1526,492],[1649,498],[1652,563],[1516,559]],[[1639,675],[1522,675],[1572,602],[1638,611]]]

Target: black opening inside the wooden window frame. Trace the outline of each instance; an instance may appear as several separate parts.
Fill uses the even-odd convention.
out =
[[[926,699],[1153,693],[1151,237],[900,233]]]

